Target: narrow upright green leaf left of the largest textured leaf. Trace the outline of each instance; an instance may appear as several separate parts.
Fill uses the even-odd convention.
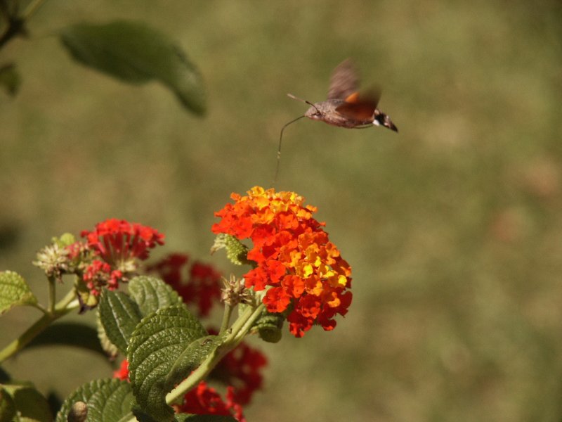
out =
[[[123,292],[103,289],[98,306],[100,321],[107,338],[126,354],[129,338],[141,321],[141,309]]]

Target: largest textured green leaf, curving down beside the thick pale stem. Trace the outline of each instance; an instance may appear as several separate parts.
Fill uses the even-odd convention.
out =
[[[152,418],[169,421],[173,417],[165,397],[174,385],[166,379],[172,369],[175,373],[184,369],[176,362],[185,359],[183,352],[191,343],[206,335],[200,321],[184,305],[158,309],[135,328],[127,352],[129,379],[138,404]],[[184,378],[189,371],[183,373]]]

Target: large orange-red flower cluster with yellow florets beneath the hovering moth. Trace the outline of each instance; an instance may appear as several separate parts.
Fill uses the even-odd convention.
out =
[[[247,196],[233,193],[235,203],[215,213],[224,233],[254,243],[247,258],[256,268],[244,275],[254,290],[268,287],[263,303],[269,312],[289,312],[289,330],[301,337],[313,324],[325,330],[336,326],[351,304],[351,268],[316,221],[311,205],[294,192],[256,186]]]

